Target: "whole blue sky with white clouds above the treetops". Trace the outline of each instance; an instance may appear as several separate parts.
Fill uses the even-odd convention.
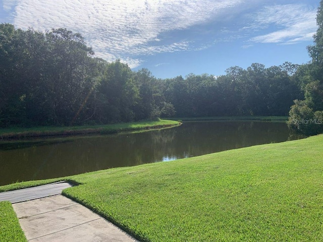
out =
[[[310,61],[316,0],[2,0],[0,23],[81,33],[96,57],[156,78]]]

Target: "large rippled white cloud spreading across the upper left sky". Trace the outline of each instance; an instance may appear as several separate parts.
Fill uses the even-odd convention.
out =
[[[7,8],[13,1],[7,0]],[[244,0],[16,0],[14,25],[80,32],[97,56],[147,55],[194,49],[193,42],[163,43],[161,35],[206,23]],[[129,57],[130,58],[130,57]],[[141,60],[132,57],[133,65]]]

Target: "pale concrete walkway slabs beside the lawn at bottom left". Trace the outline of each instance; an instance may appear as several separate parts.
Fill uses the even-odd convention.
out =
[[[13,204],[29,241],[138,241],[62,195]]]

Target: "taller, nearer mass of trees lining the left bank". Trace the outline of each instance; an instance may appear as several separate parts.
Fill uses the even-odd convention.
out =
[[[93,57],[79,33],[0,25],[0,126],[70,126],[173,114],[146,70]]]

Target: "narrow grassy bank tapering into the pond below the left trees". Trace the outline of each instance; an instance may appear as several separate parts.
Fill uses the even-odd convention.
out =
[[[75,126],[75,127],[35,127],[0,129],[0,139],[14,139],[25,137],[61,136],[80,134],[112,134],[123,131],[158,129],[180,125],[175,120],[159,119],[156,121],[143,121],[137,123],[122,123],[101,126]]]

